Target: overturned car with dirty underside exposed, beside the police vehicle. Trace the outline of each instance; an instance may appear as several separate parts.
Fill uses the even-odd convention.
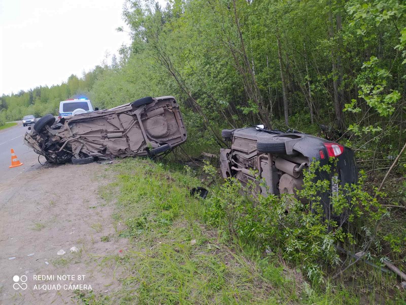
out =
[[[112,109],[40,118],[24,143],[51,163],[156,156],[186,141],[179,105],[172,96],[146,97]]]

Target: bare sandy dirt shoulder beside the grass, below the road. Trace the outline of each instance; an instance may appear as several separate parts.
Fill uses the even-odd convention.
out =
[[[102,294],[120,287],[122,270],[106,261],[127,240],[113,237],[121,226],[112,219],[114,202],[99,196],[113,176],[108,166],[34,166],[3,186],[0,304],[80,303],[70,288],[85,286],[75,285]]]

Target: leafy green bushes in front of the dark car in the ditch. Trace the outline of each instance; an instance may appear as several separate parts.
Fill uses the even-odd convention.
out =
[[[330,166],[313,162],[304,173],[298,197],[308,203],[289,195],[253,198],[238,181],[227,179],[207,199],[205,221],[266,255],[281,255],[300,266],[313,283],[323,282],[327,271],[343,264],[335,245],[378,255],[376,232],[389,214],[363,190],[365,176],[361,174],[357,185],[340,188],[339,195],[331,198],[334,214],[347,216],[340,223],[324,216],[320,193],[329,190],[329,181],[313,182],[317,170],[329,171]]]

